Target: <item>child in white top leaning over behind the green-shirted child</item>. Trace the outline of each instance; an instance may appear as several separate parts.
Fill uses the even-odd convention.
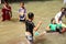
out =
[[[64,15],[66,18],[66,8],[62,8],[61,11],[55,15],[56,23],[58,23],[58,20],[59,20],[59,23],[62,23],[62,18]]]

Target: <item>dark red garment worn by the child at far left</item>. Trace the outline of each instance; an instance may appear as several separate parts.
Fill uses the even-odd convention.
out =
[[[10,12],[11,7],[8,7],[8,9],[2,8],[2,21],[11,20]]]

